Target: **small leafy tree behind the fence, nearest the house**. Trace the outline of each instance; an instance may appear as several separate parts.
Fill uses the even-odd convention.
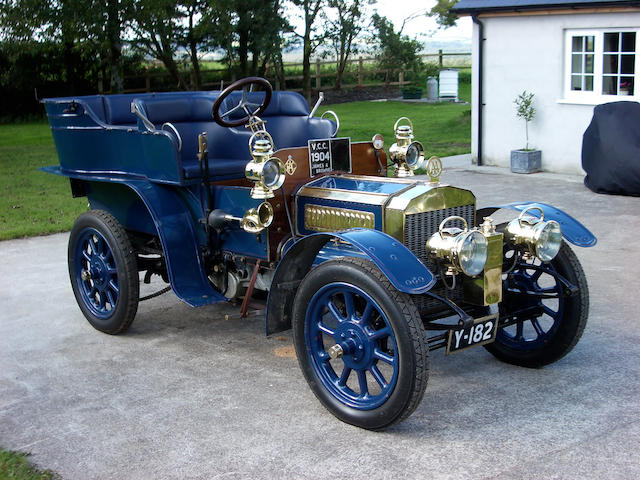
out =
[[[380,68],[387,71],[386,81],[390,81],[388,72],[396,69],[417,74],[423,66],[419,55],[422,44],[403,35],[402,28],[396,32],[393,24],[378,14],[373,16],[373,26],[377,43],[376,56]]]

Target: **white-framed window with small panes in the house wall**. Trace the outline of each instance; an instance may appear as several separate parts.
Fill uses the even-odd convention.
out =
[[[612,96],[640,96],[635,88],[639,32],[567,30],[565,97],[602,103],[612,101]]]

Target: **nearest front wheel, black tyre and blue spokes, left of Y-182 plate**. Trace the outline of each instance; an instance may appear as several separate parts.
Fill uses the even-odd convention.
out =
[[[344,355],[329,359],[345,334]],[[420,404],[429,378],[420,315],[372,262],[340,258],[309,272],[294,301],[293,338],[311,390],[340,420],[380,430]]]

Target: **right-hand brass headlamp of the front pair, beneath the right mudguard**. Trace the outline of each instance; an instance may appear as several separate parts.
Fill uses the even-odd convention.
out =
[[[540,218],[527,215],[530,210],[538,210]],[[542,208],[532,205],[507,224],[504,239],[521,250],[525,258],[535,256],[542,262],[550,262],[560,251],[562,230],[558,222],[544,220]]]

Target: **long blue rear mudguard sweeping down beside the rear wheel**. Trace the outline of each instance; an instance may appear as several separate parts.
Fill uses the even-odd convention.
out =
[[[45,171],[78,180],[115,182],[129,187],[140,197],[153,219],[176,296],[192,307],[227,300],[209,283],[193,216],[179,190],[131,176],[62,172],[59,167],[47,167]]]

